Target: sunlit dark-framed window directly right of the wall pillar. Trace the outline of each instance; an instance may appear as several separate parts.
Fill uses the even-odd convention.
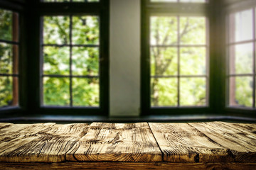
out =
[[[203,111],[209,106],[208,4],[142,2],[142,113]]]

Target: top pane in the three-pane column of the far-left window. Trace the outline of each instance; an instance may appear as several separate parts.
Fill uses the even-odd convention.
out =
[[[0,8],[0,40],[18,42],[18,13]]]

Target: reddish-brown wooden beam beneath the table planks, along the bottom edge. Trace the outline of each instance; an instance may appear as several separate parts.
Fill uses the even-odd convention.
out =
[[[255,163],[167,163],[167,162],[66,162],[66,163],[0,163],[1,170],[19,169],[109,169],[109,170],[256,170]]]

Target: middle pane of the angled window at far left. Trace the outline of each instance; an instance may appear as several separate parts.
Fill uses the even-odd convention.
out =
[[[18,46],[0,42],[0,74],[18,74]]]

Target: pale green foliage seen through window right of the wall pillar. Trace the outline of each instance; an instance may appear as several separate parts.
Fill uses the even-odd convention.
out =
[[[151,45],[151,76],[206,75],[206,47],[177,46],[206,45],[206,18],[152,16]],[[177,106],[178,79],[181,106],[206,105],[205,78],[165,77],[151,79],[151,106]]]

